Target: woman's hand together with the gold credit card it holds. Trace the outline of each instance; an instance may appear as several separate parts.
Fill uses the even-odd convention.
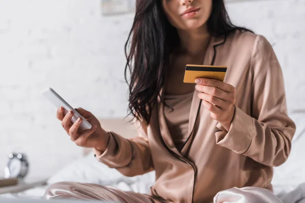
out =
[[[197,84],[202,105],[212,119],[229,131],[235,112],[236,89],[223,82],[226,71],[226,66],[187,65],[184,82]]]

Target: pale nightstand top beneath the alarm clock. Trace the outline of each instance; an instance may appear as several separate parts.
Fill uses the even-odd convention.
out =
[[[7,186],[7,187],[0,187],[0,194],[5,194],[5,193],[18,193],[22,192],[27,189],[31,189],[34,187],[38,186],[43,186],[47,184],[47,180],[41,180],[41,181],[26,181],[22,182],[20,181],[18,185],[13,185],[13,186]]]

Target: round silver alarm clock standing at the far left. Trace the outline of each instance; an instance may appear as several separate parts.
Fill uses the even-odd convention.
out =
[[[28,161],[25,154],[10,153],[8,163],[5,167],[5,178],[23,179],[28,173]]]

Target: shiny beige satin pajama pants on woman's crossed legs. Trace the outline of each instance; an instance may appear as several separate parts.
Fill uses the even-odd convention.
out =
[[[45,194],[46,199],[83,199],[103,200],[124,203],[163,203],[169,202],[160,197],[125,192],[113,187],[88,183],[60,182],[50,185]],[[214,197],[214,203],[282,203],[271,191],[258,187],[231,188],[221,191]],[[191,203],[191,202],[190,202]]]

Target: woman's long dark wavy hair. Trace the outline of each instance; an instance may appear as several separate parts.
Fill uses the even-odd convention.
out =
[[[223,0],[213,0],[212,4],[207,21],[210,35],[222,36],[236,29],[248,30],[232,24]],[[164,85],[170,53],[178,46],[177,30],[167,20],[162,0],[137,0],[134,22],[125,44],[129,114],[137,120],[149,123],[151,111]]]

